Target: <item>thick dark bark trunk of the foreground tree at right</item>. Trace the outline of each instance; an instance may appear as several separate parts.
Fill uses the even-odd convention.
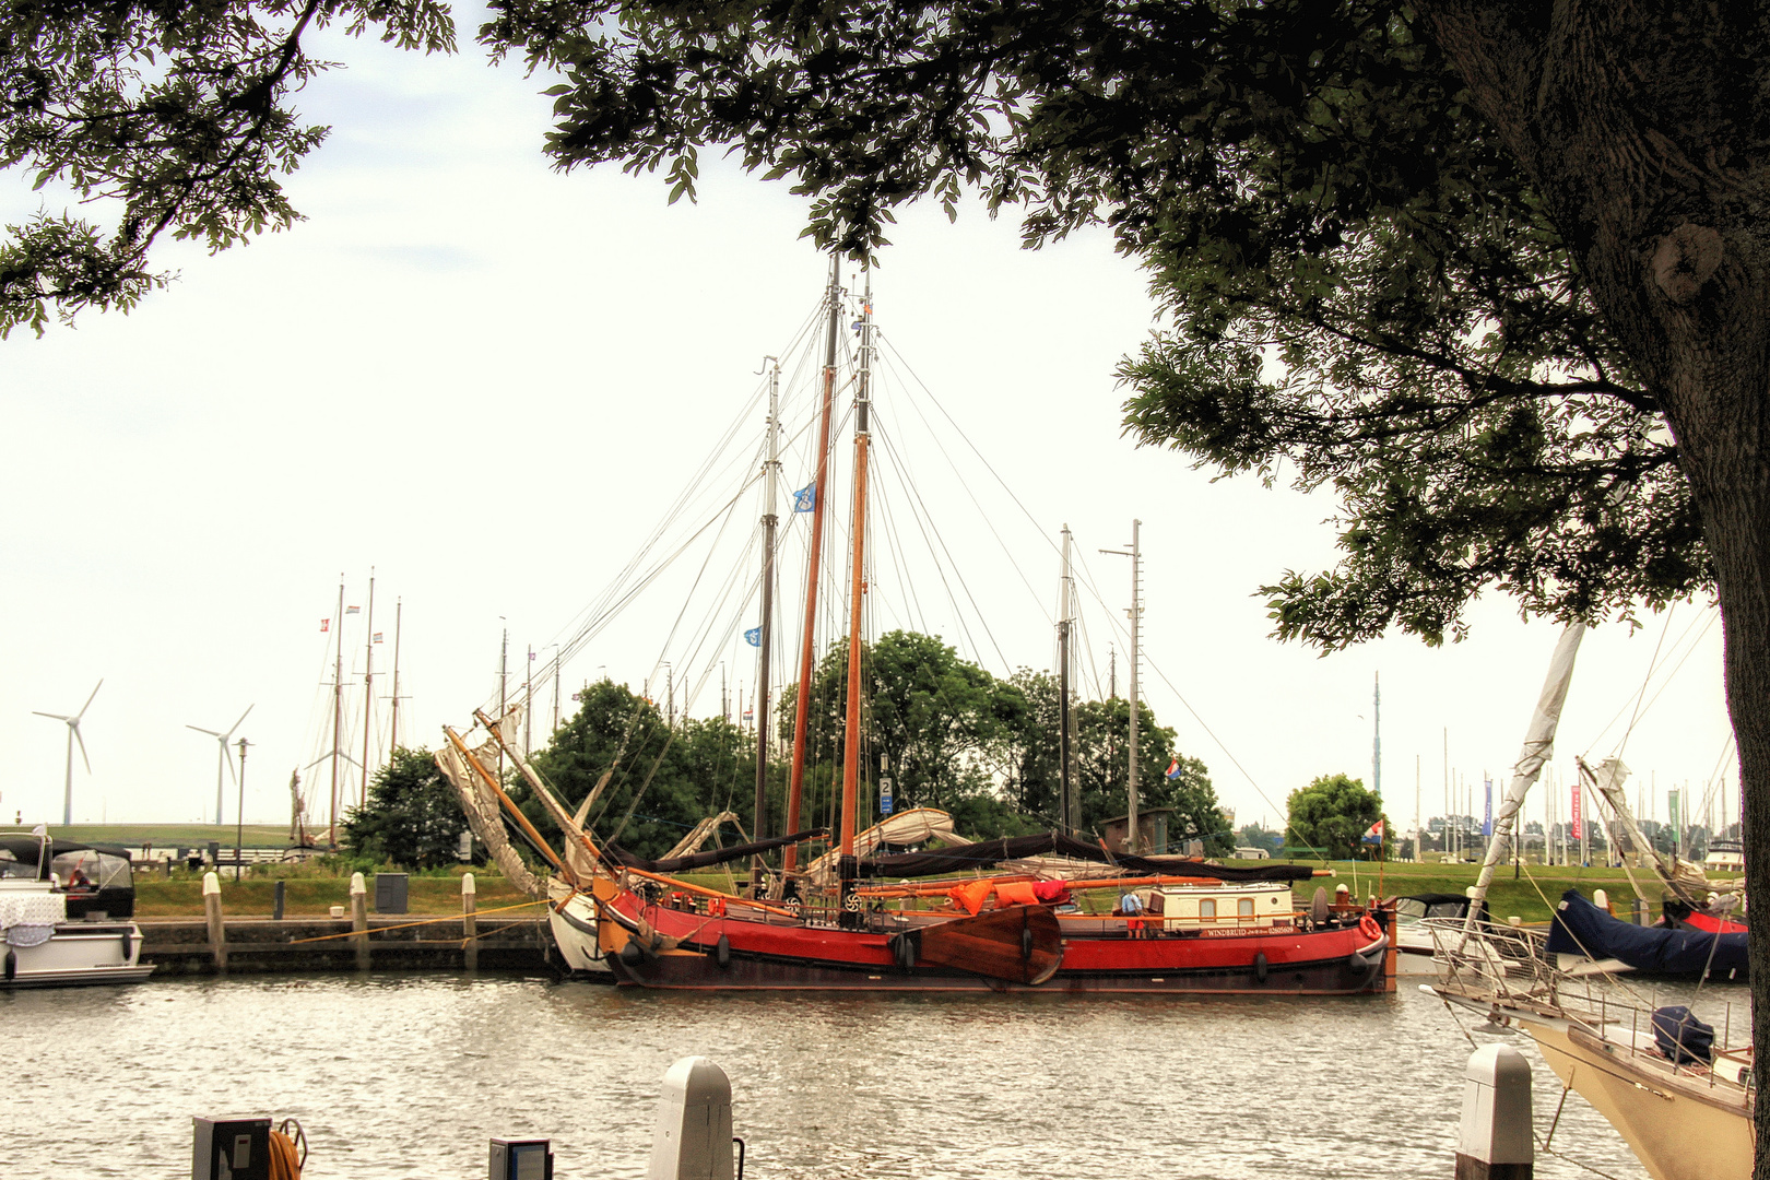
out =
[[[1703,513],[1740,750],[1756,1180],[1770,1180],[1770,143],[1749,4],[1425,0],[1658,398]]]

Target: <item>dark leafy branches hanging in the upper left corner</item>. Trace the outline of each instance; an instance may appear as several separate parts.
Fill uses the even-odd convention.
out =
[[[280,175],[326,136],[294,96],[327,62],[304,37],[340,25],[451,51],[435,0],[64,0],[0,11],[0,170],[115,209],[115,226],[41,209],[0,239],[0,338],[83,308],[135,306],[165,274],[163,234],[211,253],[301,214]]]

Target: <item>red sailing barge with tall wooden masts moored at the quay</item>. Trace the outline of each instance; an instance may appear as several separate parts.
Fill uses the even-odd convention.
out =
[[[876,830],[857,833],[860,743],[843,743],[841,812],[830,860],[800,872],[798,849],[825,830],[800,830],[805,794],[809,688],[816,639],[820,556],[830,502],[830,430],[843,310],[837,265],[827,290],[816,476],[807,488],[811,529],[805,630],[800,649],[798,708],[786,793],[789,835],[717,853],[648,862],[598,842],[586,826],[595,793],[573,814],[533,770],[506,732],[512,715],[476,720],[490,734],[478,750],[453,731],[439,766],[462,796],[481,840],[506,872],[526,874],[503,842],[499,812],[545,856],[552,931],[566,962],[605,966],[620,984],[666,989],[862,989],[862,991],[1112,991],[1112,992],[1294,992],[1351,994],[1393,987],[1393,946],[1381,916],[1333,911],[1317,890],[1308,913],[1292,906],[1290,885],[1310,867],[1237,869],[1202,860],[1112,854],[1097,842],[1062,833],[892,854],[908,840]],[[851,577],[846,665],[846,734],[862,732],[862,617],[867,541],[867,460],[871,449],[871,292],[860,301],[855,387]],[[758,808],[768,752],[768,635],[773,593],[773,469],[777,407],[770,398],[768,511],[765,515],[761,685],[758,722]],[[563,833],[554,849],[522,816],[489,770],[497,755],[515,766],[529,793]],[[938,814],[938,812],[936,812]],[[887,823],[906,823],[896,817]],[[931,823],[924,814],[917,823]],[[950,830],[950,826],[949,826]],[[931,831],[929,831],[931,835]],[[869,839],[871,837],[871,839]],[[758,865],[747,893],[722,892],[674,876],[713,863],[782,851],[773,890]],[[1112,872],[1076,881],[1115,888],[1110,915],[1067,906],[1071,885],[1016,870],[1016,862],[1050,856]],[[510,862],[510,863],[506,863]],[[981,872],[995,870],[991,876]],[[540,888],[536,885],[536,888]],[[1060,913],[1060,909],[1067,909]]]

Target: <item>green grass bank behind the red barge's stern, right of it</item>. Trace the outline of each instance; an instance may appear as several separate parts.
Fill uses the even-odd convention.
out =
[[[1237,860],[1235,865],[1260,865],[1269,862]],[[1368,862],[1336,860],[1331,865],[1333,876],[1315,877],[1292,888],[1299,906],[1308,906],[1315,895],[1315,886],[1326,886],[1329,897],[1336,885],[1345,885],[1352,892],[1352,900],[1363,902],[1377,892],[1379,870],[1382,893],[1462,893],[1474,885],[1481,872],[1480,865],[1375,865]],[[1628,874],[1621,869],[1579,869],[1575,865],[1524,865],[1513,879],[1512,865],[1499,865],[1494,870],[1494,883],[1487,890],[1487,906],[1497,922],[1519,916],[1524,922],[1547,922],[1551,908],[1561,900],[1561,893],[1577,888],[1586,897],[1591,890],[1607,890],[1618,913],[1627,913],[1634,892],[1628,886]],[[1658,916],[1658,892],[1650,888],[1651,870],[1635,869],[1635,879],[1648,890],[1653,904],[1653,916]]]

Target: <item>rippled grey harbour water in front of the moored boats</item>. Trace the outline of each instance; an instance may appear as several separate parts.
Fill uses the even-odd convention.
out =
[[[1720,1017],[1745,989],[1710,989]],[[274,977],[0,994],[0,1175],[189,1176],[191,1115],[294,1115],[306,1175],[478,1178],[490,1136],[558,1175],[644,1175],[699,1053],[772,1178],[1450,1176],[1469,1040],[1386,998],[673,996],[471,977]],[[1559,1084],[1528,1040],[1538,1136]],[[1556,1150],[1644,1171],[1572,1095]],[[1589,1175],[1538,1159],[1538,1176]]]

